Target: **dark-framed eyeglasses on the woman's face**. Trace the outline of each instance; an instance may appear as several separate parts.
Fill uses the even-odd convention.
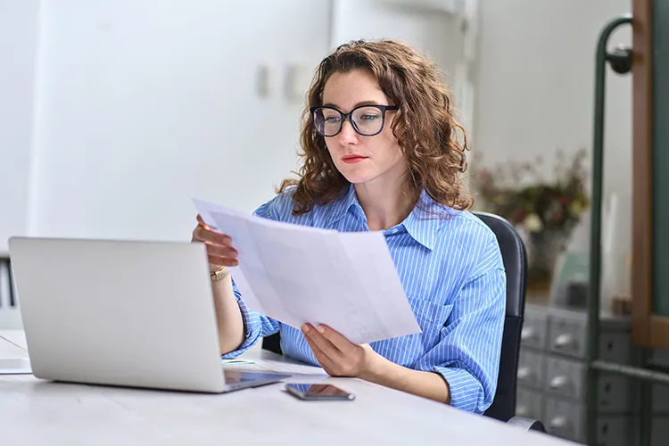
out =
[[[348,113],[338,111],[335,107],[311,107],[310,111],[318,133],[331,137],[339,135],[347,119],[360,135],[378,135],[384,129],[385,111],[399,109],[397,105],[360,105]]]

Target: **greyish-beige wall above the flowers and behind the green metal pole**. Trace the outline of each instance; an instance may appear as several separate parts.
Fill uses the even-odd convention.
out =
[[[630,0],[482,0],[476,67],[475,149],[484,164],[549,161],[558,148],[592,147],[595,48],[600,30],[631,12]],[[611,44],[630,44],[622,27]],[[619,277],[629,281],[632,181],[632,80],[607,70],[605,194],[620,198],[615,227]],[[587,220],[574,248],[588,246]]]

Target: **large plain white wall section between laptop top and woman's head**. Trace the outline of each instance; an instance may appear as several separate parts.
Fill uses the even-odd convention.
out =
[[[29,233],[185,240],[191,197],[245,211],[268,200],[295,167],[302,98],[286,95],[285,73],[326,54],[327,12],[311,0],[45,0]]]

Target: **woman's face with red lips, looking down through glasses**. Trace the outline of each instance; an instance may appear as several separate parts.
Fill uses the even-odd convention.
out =
[[[327,79],[323,88],[324,106],[348,113],[361,104],[397,105],[389,102],[376,78],[367,70],[337,72]],[[368,111],[365,114],[356,113],[354,120],[359,128],[374,126],[375,120],[381,120],[381,111]],[[327,150],[336,168],[351,184],[400,180],[406,171],[401,147],[392,134],[391,124],[396,113],[385,111],[384,128],[376,136],[360,135],[351,121],[345,120],[338,135],[325,137]]]

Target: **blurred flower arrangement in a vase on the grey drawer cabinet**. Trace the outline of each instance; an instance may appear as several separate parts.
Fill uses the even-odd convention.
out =
[[[508,161],[494,169],[473,170],[477,208],[508,219],[525,235],[530,285],[550,280],[558,254],[590,205],[587,154],[580,149],[568,157],[558,150],[553,178],[541,169],[541,157],[534,162]]]

